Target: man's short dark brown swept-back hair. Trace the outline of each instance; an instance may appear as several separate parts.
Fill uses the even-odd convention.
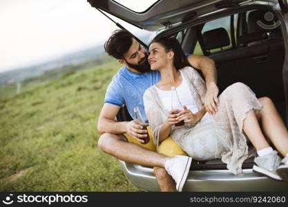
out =
[[[124,59],[132,45],[133,35],[126,30],[115,30],[104,44],[105,51],[115,59]]]

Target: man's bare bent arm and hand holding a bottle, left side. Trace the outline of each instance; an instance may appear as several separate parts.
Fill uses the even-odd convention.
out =
[[[139,121],[114,121],[114,118],[119,112],[120,107],[111,103],[104,103],[104,106],[100,112],[97,129],[98,132],[111,133],[111,134],[122,134],[127,133],[134,139],[144,142],[143,139],[146,137],[146,130],[142,130],[142,125]]]

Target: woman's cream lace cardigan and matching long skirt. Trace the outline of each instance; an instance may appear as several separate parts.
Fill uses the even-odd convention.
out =
[[[206,93],[206,86],[198,72],[182,68],[182,79],[186,79],[189,91],[198,110]],[[222,159],[234,174],[242,172],[242,164],[251,154],[247,138],[242,132],[243,120],[249,110],[260,110],[260,102],[253,91],[243,83],[234,83],[222,92],[220,105],[215,115],[206,113],[198,124],[173,126],[171,137],[195,160]],[[164,108],[157,93],[151,86],[143,96],[144,108],[153,132],[153,141],[158,146],[159,132],[167,119],[169,110]]]

